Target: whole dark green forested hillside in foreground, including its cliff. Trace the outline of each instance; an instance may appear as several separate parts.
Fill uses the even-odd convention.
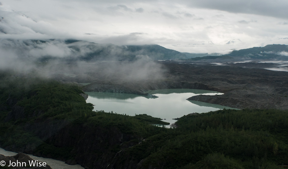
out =
[[[0,147],[87,168],[280,168],[288,164],[288,112],[219,110],[158,118],[93,111],[81,88],[0,74]],[[164,124],[164,123],[162,123]],[[69,163],[68,161],[68,163]]]

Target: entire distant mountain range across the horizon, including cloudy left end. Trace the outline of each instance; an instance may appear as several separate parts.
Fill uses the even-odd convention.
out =
[[[117,46],[82,40],[0,40],[0,50],[10,51],[25,60],[45,62],[63,61],[134,61],[179,60],[181,62],[229,62],[288,60],[287,45],[266,45],[249,49],[233,50],[226,55],[219,53],[180,53],[159,45]]]

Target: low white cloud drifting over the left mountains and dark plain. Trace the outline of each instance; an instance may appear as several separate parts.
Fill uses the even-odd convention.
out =
[[[138,34],[138,33],[134,33]],[[141,33],[140,33],[141,34]],[[89,74],[103,80],[132,80],[159,79],[165,72],[162,65],[154,62],[144,50],[132,52],[125,46],[112,44],[96,44],[85,41],[63,40],[0,40],[0,69],[12,69],[26,72],[36,70],[45,77],[55,74]],[[102,53],[101,53],[102,52]],[[100,54],[99,54],[100,53]],[[148,52],[149,53],[149,52]],[[81,63],[77,59],[97,55],[100,60],[110,62]],[[43,57],[52,57],[48,62],[38,63]],[[134,61],[121,61],[127,57],[136,56]],[[108,57],[108,58],[107,58]],[[65,59],[74,58],[73,63]],[[40,60],[39,60],[40,59]]]

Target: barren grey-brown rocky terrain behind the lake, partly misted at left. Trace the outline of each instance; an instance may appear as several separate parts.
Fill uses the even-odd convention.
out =
[[[266,63],[215,65],[155,62],[159,71],[155,71],[155,76],[150,72],[143,78],[127,78],[133,72],[120,71],[113,65],[115,62],[89,65],[78,75],[79,68],[74,67],[73,77],[55,73],[52,78],[63,82],[91,83],[83,86],[83,91],[147,95],[146,91],[155,89],[212,90],[224,94],[198,95],[187,99],[239,109],[288,109],[288,72],[262,69],[267,66]]]

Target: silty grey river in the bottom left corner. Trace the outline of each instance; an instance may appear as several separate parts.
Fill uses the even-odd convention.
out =
[[[16,155],[17,153],[11,152],[11,151],[6,151],[3,148],[0,148],[0,154],[5,155],[5,156],[13,156]],[[33,160],[38,160],[41,162],[45,162],[47,165],[49,165],[52,169],[84,169],[81,165],[68,165],[65,164],[63,161],[59,160],[54,160],[52,158],[42,158],[42,157],[36,157],[34,155],[29,155]]]

